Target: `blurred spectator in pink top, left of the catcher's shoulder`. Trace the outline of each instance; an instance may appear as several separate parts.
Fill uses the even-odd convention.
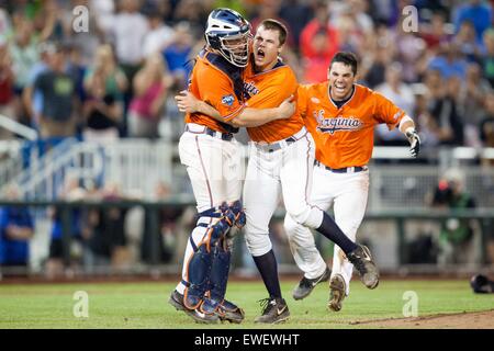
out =
[[[168,88],[172,83],[159,53],[146,59],[134,79],[134,98],[128,107],[128,135],[156,138]]]

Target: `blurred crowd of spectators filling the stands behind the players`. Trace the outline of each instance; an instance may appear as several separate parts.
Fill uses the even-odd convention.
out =
[[[228,7],[254,29],[266,18],[287,24],[283,58],[301,82],[325,80],[337,50],[355,52],[360,82],[416,118],[425,148],[492,147],[492,2],[1,0],[0,114],[44,138],[160,137],[209,12]],[[377,145],[405,143],[377,131]]]

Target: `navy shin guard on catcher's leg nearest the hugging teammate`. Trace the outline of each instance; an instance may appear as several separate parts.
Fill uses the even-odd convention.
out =
[[[231,258],[232,251],[226,246],[226,240],[223,239],[215,247],[210,278],[211,298],[218,303],[223,301],[226,294]]]

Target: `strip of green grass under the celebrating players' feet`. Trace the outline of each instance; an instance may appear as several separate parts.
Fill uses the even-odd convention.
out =
[[[358,281],[339,313],[326,308],[327,285],[319,285],[307,298],[295,302],[291,290],[295,281],[283,281],[282,291],[291,319],[280,326],[254,324],[259,314],[257,301],[266,297],[258,282],[231,282],[228,298],[246,312],[242,325],[217,325],[207,328],[369,328],[352,321],[402,318],[406,301],[403,294],[418,296],[418,315],[487,310],[493,308],[490,295],[475,295],[468,281],[381,281],[374,291]],[[10,328],[204,328],[168,305],[175,283],[80,283],[80,284],[0,284],[0,329]],[[89,317],[76,318],[74,293],[89,295]]]

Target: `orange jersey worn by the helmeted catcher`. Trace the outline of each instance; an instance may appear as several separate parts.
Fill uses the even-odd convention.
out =
[[[202,50],[192,70],[189,90],[195,98],[213,106],[225,123],[201,113],[186,114],[186,123],[205,125],[222,133],[238,132],[227,122],[245,107],[243,75],[244,69],[231,65],[221,55]]]

